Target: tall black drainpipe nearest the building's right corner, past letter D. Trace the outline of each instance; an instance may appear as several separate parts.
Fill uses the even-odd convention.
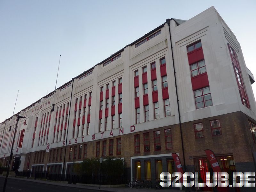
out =
[[[177,106],[178,106],[178,113],[179,113],[181,146],[182,146],[183,162],[184,162],[184,169],[185,169],[184,171],[186,172],[186,162],[185,162],[185,154],[184,154],[183,136],[182,136],[181,121],[180,121],[180,105],[179,105],[179,98],[178,98],[178,91],[177,91],[176,72],[175,72],[174,59],[173,59],[173,50],[172,50],[173,47],[172,47],[172,36],[171,36],[171,29],[170,29],[170,21],[171,21],[170,19],[166,20],[166,22],[169,26],[169,34],[170,34],[170,40],[171,40],[172,65],[173,65],[173,71],[174,71],[176,98],[177,98]]]

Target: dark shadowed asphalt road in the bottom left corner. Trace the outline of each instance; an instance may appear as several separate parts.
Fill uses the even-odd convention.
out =
[[[0,177],[0,192],[3,191],[4,178]],[[95,190],[56,186],[44,183],[8,178],[5,192],[92,192]]]

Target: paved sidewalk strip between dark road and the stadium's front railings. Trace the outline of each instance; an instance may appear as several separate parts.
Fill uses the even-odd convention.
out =
[[[0,177],[5,178],[4,176],[0,175]],[[10,179],[17,179],[17,180],[24,180],[24,181],[31,181],[31,182],[37,182],[37,183],[43,183],[48,185],[56,185],[56,186],[65,186],[65,187],[72,187],[72,188],[81,188],[81,189],[91,189],[91,190],[97,190],[97,191],[105,191],[105,192],[153,192],[156,191],[156,189],[147,189],[147,188],[129,188],[129,187],[117,187],[117,188],[104,188],[104,187],[91,187],[91,186],[84,186],[84,185],[73,185],[73,184],[66,184],[66,183],[60,183],[60,182],[54,182],[54,181],[43,181],[43,180],[34,180],[34,179],[26,179],[26,178],[15,178],[15,177],[8,177]],[[162,189],[161,189],[162,190]],[[185,192],[184,190],[175,190],[175,189],[164,189],[168,190],[170,192]]]

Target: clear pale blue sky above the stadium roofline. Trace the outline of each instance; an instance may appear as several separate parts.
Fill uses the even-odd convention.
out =
[[[212,5],[236,35],[256,76],[254,0],[0,1],[0,122],[12,116],[18,90],[14,113],[54,90],[60,54],[57,87],[167,18],[188,20]]]

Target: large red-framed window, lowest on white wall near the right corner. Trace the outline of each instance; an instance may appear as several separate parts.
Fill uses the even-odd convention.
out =
[[[198,89],[194,91],[196,109],[204,108],[212,105],[212,97],[210,87]]]

